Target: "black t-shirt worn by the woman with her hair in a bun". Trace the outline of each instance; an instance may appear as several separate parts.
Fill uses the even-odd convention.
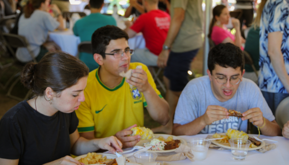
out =
[[[0,120],[0,158],[42,165],[70,155],[69,135],[77,126],[75,111],[46,116],[22,101]]]

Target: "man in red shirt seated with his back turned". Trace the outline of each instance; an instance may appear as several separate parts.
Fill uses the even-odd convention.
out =
[[[142,62],[147,66],[157,66],[158,55],[163,49],[171,17],[158,9],[158,0],[143,0],[147,13],[142,14],[133,25],[126,24],[128,36],[134,37],[142,32],[145,38],[145,49],[136,49],[131,62]]]

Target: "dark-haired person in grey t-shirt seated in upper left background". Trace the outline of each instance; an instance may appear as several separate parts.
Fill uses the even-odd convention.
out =
[[[18,22],[18,34],[26,37],[29,42],[29,50],[37,61],[48,51],[55,51],[58,48],[55,43],[46,42],[48,31],[64,29],[60,10],[55,4],[50,5],[49,3],[50,0],[29,0]],[[56,11],[57,20],[47,12],[50,9]],[[32,60],[26,48],[18,48],[16,56],[21,62]]]

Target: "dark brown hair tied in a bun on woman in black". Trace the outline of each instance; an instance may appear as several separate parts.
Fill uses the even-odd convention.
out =
[[[21,82],[35,96],[43,96],[47,87],[60,93],[75,85],[81,78],[87,77],[88,73],[88,67],[80,59],[55,51],[45,54],[38,64],[26,64],[21,72]]]

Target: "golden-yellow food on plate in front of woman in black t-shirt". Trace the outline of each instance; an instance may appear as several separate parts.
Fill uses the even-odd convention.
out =
[[[113,161],[113,159],[107,159],[106,156],[102,157],[102,155],[96,154],[95,152],[92,153],[89,152],[85,158],[80,158],[78,162],[84,163],[86,165],[94,165],[94,164],[106,164],[111,161]]]

